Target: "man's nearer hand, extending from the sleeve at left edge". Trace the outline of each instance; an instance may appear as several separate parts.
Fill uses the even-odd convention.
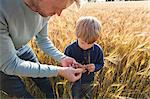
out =
[[[72,67],[58,67],[58,75],[66,78],[70,82],[75,82],[81,78],[83,69]]]

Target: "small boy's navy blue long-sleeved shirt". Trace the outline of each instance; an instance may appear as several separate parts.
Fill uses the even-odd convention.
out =
[[[95,72],[100,70],[104,65],[104,55],[102,48],[94,43],[93,47],[87,50],[83,50],[79,47],[76,40],[65,49],[67,56],[73,57],[77,62],[83,64],[93,63],[95,65]],[[91,83],[94,80],[94,72],[88,74],[85,72],[82,74],[81,83]]]

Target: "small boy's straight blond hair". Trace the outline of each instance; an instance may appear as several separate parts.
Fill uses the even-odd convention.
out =
[[[88,44],[94,43],[99,38],[101,23],[96,17],[82,16],[76,25],[76,36]]]

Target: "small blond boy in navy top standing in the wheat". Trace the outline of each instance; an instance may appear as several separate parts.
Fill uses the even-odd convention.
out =
[[[85,68],[80,80],[72,87],[73,98],[86,98],[90,96],[91,84],[94,81],[94,72],[99,71],[104,65],[102,48],[95,43],[99,38],[101,24],[91,16],[79,18],[76,26],[77,40],[69,45],[65,54],[73,57]]]

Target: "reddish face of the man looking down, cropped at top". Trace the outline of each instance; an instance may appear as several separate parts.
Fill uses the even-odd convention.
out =
[[[40,0],[37,6],[37,12],[44,17],[55,14],[60,16],[61,12],[68,7],[67,3],[68,0]]]

